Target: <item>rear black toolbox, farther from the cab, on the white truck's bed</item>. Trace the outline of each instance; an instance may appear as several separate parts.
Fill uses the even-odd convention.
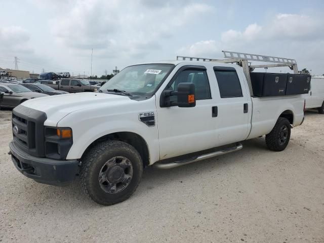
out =
[[[286,95],[308,94],[310,78],[308,74],[288,74]]]

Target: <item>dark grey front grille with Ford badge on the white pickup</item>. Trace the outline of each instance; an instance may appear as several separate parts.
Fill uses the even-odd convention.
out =
[[[44,157],[44,121],[45,112],[34,110],[22,105],[12,113],[13,138],[25,152]]]

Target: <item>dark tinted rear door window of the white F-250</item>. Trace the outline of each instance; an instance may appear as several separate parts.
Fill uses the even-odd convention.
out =
[[[243,97],[241,85],[233,67],[214,67],[221,98]]]

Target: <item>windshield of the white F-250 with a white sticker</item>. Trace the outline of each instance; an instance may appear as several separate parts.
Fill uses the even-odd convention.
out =
[[[129,66],[112,77],[100,90],[106,92],[117,89],[136,95],[153,94],[173,67],[173,64]]]

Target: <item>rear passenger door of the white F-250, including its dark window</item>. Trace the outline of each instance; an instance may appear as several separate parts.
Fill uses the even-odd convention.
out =
[[[217,140],[229,144],[245,140],[250,131],[251,97],[245,77],[234,67],[214,67],[216,94],[219,96]]]

